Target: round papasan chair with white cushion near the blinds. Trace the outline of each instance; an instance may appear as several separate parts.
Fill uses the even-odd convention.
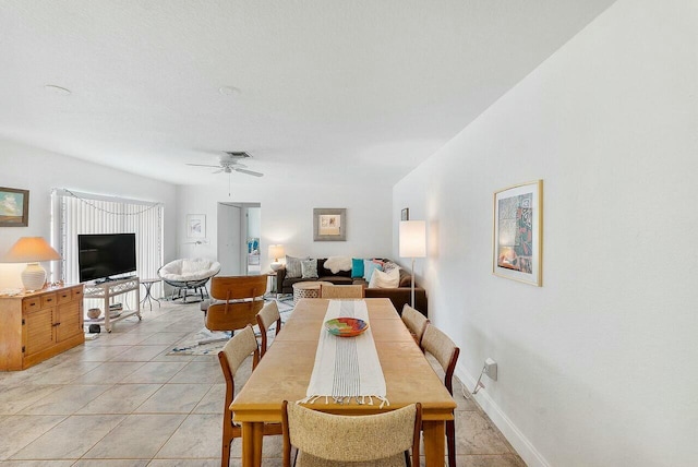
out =
[[[220,271],[220,263],[210,260],[174,260],[170,261],[159,270],[157,275],[165,280],[166,284],[172,286],[171,300],[182,298],[188,303],[188,291],[193,290],[194,296],[200,295],[203,301],[208,297],[206,283]],[[183,296],[182,296],[183,292]],[[206,294],[204,296],[204,292]],[[177,294],[177,297],[174,297]]]

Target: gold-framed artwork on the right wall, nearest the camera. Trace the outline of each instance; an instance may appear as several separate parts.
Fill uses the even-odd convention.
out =
[[[493,250],[495,275],[543,285],[543,180],[494,193]]]

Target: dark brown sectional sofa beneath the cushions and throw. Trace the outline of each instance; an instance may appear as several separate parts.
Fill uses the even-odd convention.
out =
[[[320,258],[317,261],[317,278],[287,277],[286,266],[280,267],[276,272],[276,284],[278,294],[293,294],[293,284],[301,282],[323,280],[335,285],[361,284],[364,288],[366,298],[389,298],[398,313],[402,313],[405,303],[411,300],[411,275],[409,271],[400,268],[400,285],[397,288],[371,288],[363,277],[351,277],[351,270],[338,271],[333,273],[325,267],[326,258]],[[383,260],[388,261],[388,260]],[[422,314],[428,316],[426,290],[414,284],[414,308]]]

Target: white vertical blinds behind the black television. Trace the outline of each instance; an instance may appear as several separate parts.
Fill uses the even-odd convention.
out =
[[[157,277],[157,270],[163,265],[163,203],[55,189],[51,209],[51,243],[62,258],[51,263],[53,280],[80,283],[80,234],[135,234],[136,275]]]

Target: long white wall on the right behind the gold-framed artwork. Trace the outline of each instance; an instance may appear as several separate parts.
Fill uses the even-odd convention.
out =
[[[430,318],[471,388],[498,361],[478,399],[529,465],[698,459],[697,134],[698,3],[622,0],[395,187]],[[539,178],[542,288],[492,275],[493,192]]]

